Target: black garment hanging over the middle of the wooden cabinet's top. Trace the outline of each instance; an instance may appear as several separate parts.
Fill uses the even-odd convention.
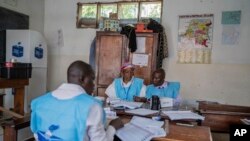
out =
[[[120,33],[128,37],[129,39],[128,48],[130,49],[130,52],[135,52],[137,49],[135,28],[132,26],[126,25],[122,27],[122,30]]]

